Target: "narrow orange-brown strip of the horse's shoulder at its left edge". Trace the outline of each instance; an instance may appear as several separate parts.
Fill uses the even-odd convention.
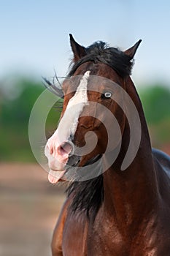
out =
[[[63,227],[66,221],[67,208],[69,207],[70,199],[67,198],[61,209],[61,213],[58,217],[58,222],[55,225],[53,232],[53,240],[51,243],[53,256],[63,256],[62,241],[63,241]]]

